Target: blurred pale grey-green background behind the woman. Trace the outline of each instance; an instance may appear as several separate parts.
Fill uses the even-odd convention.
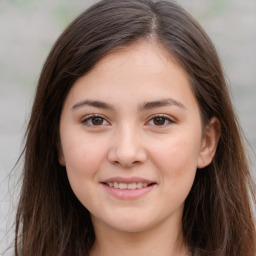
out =
[[[0,0],[0,255],[11,255],[21,164],[12,168],[46,56],[66,25],[90,0]],[[177,0],[213,40],[233,103],[250,146],[256,149],[256,1]]]

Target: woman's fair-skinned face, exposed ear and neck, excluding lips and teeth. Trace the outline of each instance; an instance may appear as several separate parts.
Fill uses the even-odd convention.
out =
[[[170,54],[139,42],[100,60],[71,88],[60,138],[60,164],[91,213],[91,255],[186,255],[184,201],[197,169],[214,156],[218,121],[202,129],[187,74]],[[154,186],[118,198],[101,183],[113,177]]]

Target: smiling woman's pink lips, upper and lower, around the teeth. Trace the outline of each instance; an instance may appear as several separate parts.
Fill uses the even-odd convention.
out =
[[[150,184],[147,187],[142,188],[136,188],[136,189],[119,189],[114,187],[109,187],[107,183],[109,182],[118,182],[118,183],[147,183]],[[122,200],[132,200],[132,199],[138,199],[140,197],[143,197],[144,195],[148,194],[150,191],[152,191],[157,183],[151,180],[147,180],[140,177],[112,177],[109,179],[106,179],[100,183],[105,191],[114,196],[115,198],[122,199]]]

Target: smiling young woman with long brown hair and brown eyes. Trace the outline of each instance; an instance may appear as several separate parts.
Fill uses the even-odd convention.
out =
[[[16,255],[255,255],[221,64],[176,4],[82,13],[46,60],[26,136]]]

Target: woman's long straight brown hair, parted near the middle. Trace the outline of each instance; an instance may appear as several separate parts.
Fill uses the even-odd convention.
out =
[[[255,203],[255,187],[213,44],[174,3],[103,0],[69,25],[43,67],[26,132],[16,256],[89,254],[95,239],[90,214],[73,194],[58,161],[63,102],[74,82],[103,56],[147,39],[165,47],[186,70],[203,124],[214,116],[221,124],[216,155],[197,171],[185,201],[185,241],[199,255],[255,255],[250,203]]]

